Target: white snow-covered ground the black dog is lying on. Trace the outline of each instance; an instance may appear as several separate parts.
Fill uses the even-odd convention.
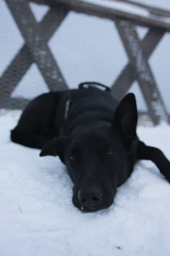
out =
[[[10,142],[20,111],[0,112],[0,256],[170,256],[170,184],[143,161],[109,210],[81,213],[58,157]],[[170,127],[138,128],[170,159]]]

